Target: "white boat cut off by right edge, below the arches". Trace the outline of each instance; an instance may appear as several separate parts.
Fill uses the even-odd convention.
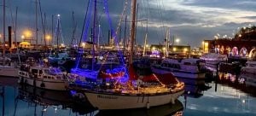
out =
[[[241,78],[246,78],[246,85],[256,86],[256,61],[247,61],[246,67],[241,67]]]

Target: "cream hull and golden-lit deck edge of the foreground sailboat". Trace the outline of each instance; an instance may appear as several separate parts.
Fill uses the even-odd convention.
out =
[[[183,94],[183,84],[180,89],[145,88],[144,90],[125,91],[87,91],[85,96],[89,102],[99,109],[128,109],[154,107],[167,103],[174,103]]]

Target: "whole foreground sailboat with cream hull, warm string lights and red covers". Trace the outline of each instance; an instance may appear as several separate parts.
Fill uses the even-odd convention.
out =
[[[179,82],[172,73],[157,75],[151,72],[151,68],[145,62],[132,61],[136,3],[136,0],[132,0],[129,78],[125,80],[122,77],[104,78],[98,76],[103,78],[100,88],[84,90],[84,95],[91,105],[100,110],[149,108],[171,102],[175,103],[177,97],[184,92],[184,84]],[[168,76],[169,81],[161,81],[166,79],[163,78],[166,76]]]

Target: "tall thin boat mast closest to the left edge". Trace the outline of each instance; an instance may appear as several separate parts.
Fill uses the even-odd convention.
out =
[[[3,0],[3,66],[5,65],[5,0]]]

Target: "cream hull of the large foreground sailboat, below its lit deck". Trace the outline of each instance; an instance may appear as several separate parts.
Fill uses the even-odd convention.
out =
[[[104,109],[129,109],[154,107],[167,103],[174,103],[178,96],[183,94],[184,90],[175,93],[162,93],[154,95],[129,95],[113,93],[85,92],[85,96],[92,106],[101,110]]]

